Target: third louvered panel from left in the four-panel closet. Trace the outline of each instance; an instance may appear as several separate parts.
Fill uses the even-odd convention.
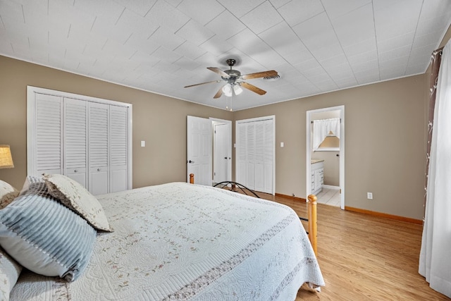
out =
[[[109,105],[88,103],[89,192],[109,192]]]

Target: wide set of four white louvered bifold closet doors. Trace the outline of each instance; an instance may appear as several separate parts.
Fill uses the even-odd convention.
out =
[[[28,174],[60,173],[93,195],[130,189],[130,108],[30,94]]]

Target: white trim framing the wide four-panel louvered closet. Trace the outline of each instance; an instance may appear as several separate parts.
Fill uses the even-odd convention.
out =
[[[99,104],[109,104],[113,106],[125,106],[128,108],[128,167],[127,167],[127,178],[128,178],[128,189],[132,189],[133,186],[133,179],[132,179],[132,157],[133,157],[133,148],[132,148],[132,131],[133,131],[133,105],[128,104],[125,102],[116,102],[109,99],[102,99],[97,97],[90,97],[86,95],[81,94],[73,94],[68,92],[62,92],[58,90],[50,90],[45,89],[41,87],[33,87],[28,85],[27,86],[27,175],[30,175],[34,171],[34,167],[32,162],[35,162],[35,154],[33,152],[33,149],[35,147],[35,141],[33,140],[33,137],[35,137],[35,128],[33,125],[35,124],[36,120],[36,110],[35,110],[35,94],[47,94],[47,95],[53,95],[56,97],[66,97],[70,99],[80,99],[87,102],[97,102]]]

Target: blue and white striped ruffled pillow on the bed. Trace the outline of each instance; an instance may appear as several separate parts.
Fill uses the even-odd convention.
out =
[[[0,245],[22,266],[44,276],[78,278],[89,263],[96,233],[51,197],[45,183],[32,185],[0,210]]]

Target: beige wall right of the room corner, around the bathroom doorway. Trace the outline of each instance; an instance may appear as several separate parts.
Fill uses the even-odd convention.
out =
[[[306,111],[344,105],[346,206],[421,219],[424,80],[390,80],[237,111],[234,118],[276,115],[276,192],[305,197]]]

